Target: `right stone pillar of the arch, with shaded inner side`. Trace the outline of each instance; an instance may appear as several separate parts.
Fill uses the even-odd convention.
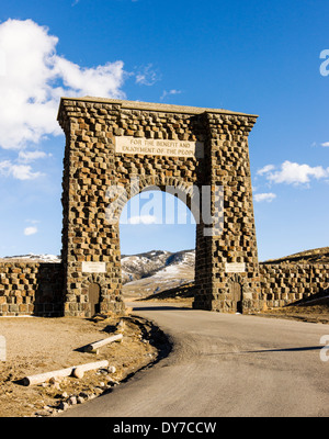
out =
[[[205,236],[204,225],[196,236],[196,297],[194,308],[230,312],[235,309],[231,282],[242,289],[243,312],[259,308],[260,284],[248,135],[256,116],[225,115],[207,112],[205,168],[203,184],[215,191],[223,188],[223,232],[215,227]],[[220,205],[220,203],[219,203]],[[202,270],[201,270],[202,266]]]

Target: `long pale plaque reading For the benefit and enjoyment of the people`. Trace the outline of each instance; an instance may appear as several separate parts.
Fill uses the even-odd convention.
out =
[[[204,143],[118,136],[115,137],[115,153],[203,158]]]

